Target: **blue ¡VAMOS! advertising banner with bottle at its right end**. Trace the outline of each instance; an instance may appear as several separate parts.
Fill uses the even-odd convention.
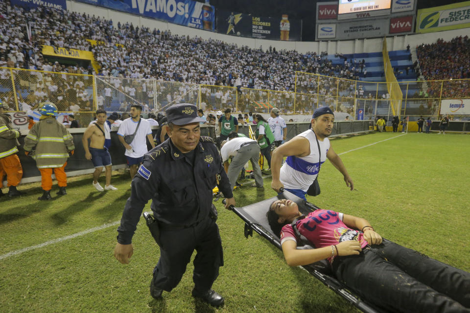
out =
[[[18,0],[15,0],[18,1]],[[76,0],[151,19],[214,31],[215,8],[193,0]]]

